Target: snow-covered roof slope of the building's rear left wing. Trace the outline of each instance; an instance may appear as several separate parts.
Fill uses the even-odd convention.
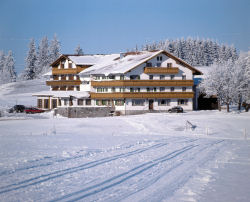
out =
[[[83,55],[83,56],[68,56],[68,58],[76,65],[95,65],[103,61],[112,61],[118,58],[119,54],[110,55]]]

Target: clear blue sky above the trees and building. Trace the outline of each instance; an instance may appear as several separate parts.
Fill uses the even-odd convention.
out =
[[[250,48],[250,0],[0,0],[0,50],[25,67],[34,38],[61,42],[61,53],[119,53],[181,37]]]

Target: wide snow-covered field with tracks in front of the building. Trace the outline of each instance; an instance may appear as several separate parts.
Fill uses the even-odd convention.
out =
[[[14,95],[0,94],[2,108],[11,106]],[[245,112],[5,113],[0,201],[249,201],[249,123]]]

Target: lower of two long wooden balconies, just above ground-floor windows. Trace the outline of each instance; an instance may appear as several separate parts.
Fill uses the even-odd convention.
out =
[[[147,98],[193,98],[193,92],[124,92],[124,93],[90,93],[92,99],[147,99]]]

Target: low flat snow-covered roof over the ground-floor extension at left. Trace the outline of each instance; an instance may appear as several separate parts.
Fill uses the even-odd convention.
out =
[[[88,98],[89,93],[86,91],[41,91],[32,94],[32,96],[50,96],[50,97],[76,97]]]

